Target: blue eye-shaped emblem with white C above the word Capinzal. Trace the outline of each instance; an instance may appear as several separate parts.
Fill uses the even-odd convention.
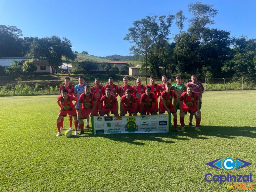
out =
[[[226,169],[228,171],[230,170],[237,170],[237,169],[241,169],[243,167],[249,166],[251,165],[251,163],[244,161],[242,159],[232,159],[232,158],[220,158],[220,159],[216,159],[214,161],[211,161],[209,163],[206,163],[206,165],[209,165],[211,167],[214,167],[216,169]]]

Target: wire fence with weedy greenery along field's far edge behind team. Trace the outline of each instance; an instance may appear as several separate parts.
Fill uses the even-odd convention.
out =
[[[169,79],[174,84],[175,79]],[[183,84],[187,84],[191,79],[182,79]],[[197,79],[204,85],[206,91],[220,91],[220,90],[256,90],[256,77],[247,78],[204,78]],[[75,86],[78,82],[71,81],[70,84]],[[122,81],[114,82],[120,86]],[[136,84],[134,80],[128,82],[130,85]],[[147,83],[150,83],[149,78]],[[162,83],[161,80],[156,80],[156,84]],[[85,84],[91,86],[95,85],[94,82],[88,81]],[[101,82],[101,85],[105,86],[108,82]],[[145,79],[142,79],[141,84],[146,84]],[[59,87],[63,85],[63,82],[59,81],[42,81],[40,83],[19,83],[19,84],[6,84],[0,86],[0,96],[22,96],[22,95],[56,95],[59,94]]]

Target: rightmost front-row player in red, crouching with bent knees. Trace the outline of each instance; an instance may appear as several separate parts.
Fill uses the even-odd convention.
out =
[[[184,131],[184,116],[189,112],[196,116],[196,131],[200,131],[199,126],[201,122],[201,111],[199,108],[199,97],[196,92],[192,91],[193,86],[188,85],[186,90],[180,95],[180,125],[181,130]]]

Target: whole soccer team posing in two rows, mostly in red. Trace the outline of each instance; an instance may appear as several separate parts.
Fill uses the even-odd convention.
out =
[[[60,96],[57,98],[60,112],[57,118],[58,134],[63,130],[63,116],[69,115],[69,130],[72,129],[72,116],[74,117],[75,135],[77,129],[81,129],[80,134],[84,134],[84,119],[89,127],[90,116],[109,116],[110,112],[118,115],[117,95],[120,96],[120,116],[136,116],[163,114],[165,111],[173,116],[174,130],[184,131],[184,116],[189,112],[189,126],[192,126],[192,119],[196,117],[196,131],[200,131],[202,93],[204,87],[196,81],[195,75],[191,76],[191,82],[186,86],[181,83],[181,77],[176,77],[176,83],[171,85],[166,76],[162,76],[161,84],[155,84],[155,77],[150,76],[150,84],[141,85],[141,79],[136,80],[136,85],[128,84],[128,77],[123,78],[124,84],[118,87],[114,84],[112,77],[109,77],[108,84],[100,85],[100,78],[95,78],[95,86],[86,85],[84,77],[78,78],[79,84],[73,88],[69,85],[70,78],[65,77],[64,85],[60,87]],[[74,95],[74,96],[73,96]],[[157,99],[160,97],[158,106]],[[75,105],[72,101],[75,101]],[[104,103],[104,105],[103,105]],[[77,114],[76,114],[77,110]],[[180,110],[181,130],[177,128],[177,110]]]

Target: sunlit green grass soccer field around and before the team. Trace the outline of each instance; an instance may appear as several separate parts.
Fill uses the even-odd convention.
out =
[[[201,132],[193,126],[93,136],[85,129],[72,138],[55,137],[56,98],[0,98],[0,191],[230,191],[234,182],[207,182],[205,174],[256,179],[255,90],[205,92]],[[205,165],[222,157],[252,165],[236,171]]]

